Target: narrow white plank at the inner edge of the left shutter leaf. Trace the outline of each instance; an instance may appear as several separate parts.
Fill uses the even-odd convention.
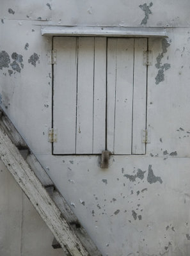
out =
[[[106,149],[106,38],[95,38],[93,154]]]

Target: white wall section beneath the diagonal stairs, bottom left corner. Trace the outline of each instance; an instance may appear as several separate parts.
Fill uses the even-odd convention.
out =
[[[0,253],[2,256],[61,256],[53,236],[0,161]]]

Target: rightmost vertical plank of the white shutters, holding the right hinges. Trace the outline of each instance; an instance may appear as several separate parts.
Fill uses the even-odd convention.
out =
[[[134,40],[132,154],[145,154],[145,143],[141,142],[141,134],[146,128],[146,65],[143,65],[143,51],[146,50],[147,39],[136,38]]]

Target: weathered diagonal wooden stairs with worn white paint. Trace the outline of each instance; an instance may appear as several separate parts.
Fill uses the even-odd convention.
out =
[[[68,256],[102,256],[65,198],[0,108],[0,157]]]

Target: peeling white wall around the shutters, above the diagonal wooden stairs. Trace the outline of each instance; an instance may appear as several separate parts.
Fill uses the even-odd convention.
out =
[[[10,58],[10,63],[2,57],[0,62],[1,106],[104,256],[189,255],[190,2],[32,2],[1,4],[0,51]],[[142,8],[149,13],[144,24]],[[153,52],[147,99],[152,138],[146,156],[114,156],[110,168],[101,170],[98,156],[51,155],[47,129],[52,121],[52,73],[47,50],[52,45],[51,37],[41,36],[41,24],[168,27],[167,40],[148,43]],[[23,56],[22,63],[17,56],[17,70],[11,66],[13,52]]]

